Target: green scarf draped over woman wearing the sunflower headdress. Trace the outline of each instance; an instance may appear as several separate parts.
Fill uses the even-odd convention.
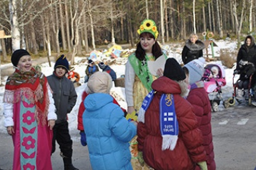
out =
[[[135,70],[135,74],[139,77],[140,81],[142,81],[142,84],[145,86],[145,88],[148,91],[151,91],[151,84],[153,82],[153,75],[148,70],[148,62],[151,59],[146,55],[145,59],[143,61],[140,61],[135,56],[135,53],[133,55],[130,55],[128,58],[130,64],[133,66],[133,70]]]

